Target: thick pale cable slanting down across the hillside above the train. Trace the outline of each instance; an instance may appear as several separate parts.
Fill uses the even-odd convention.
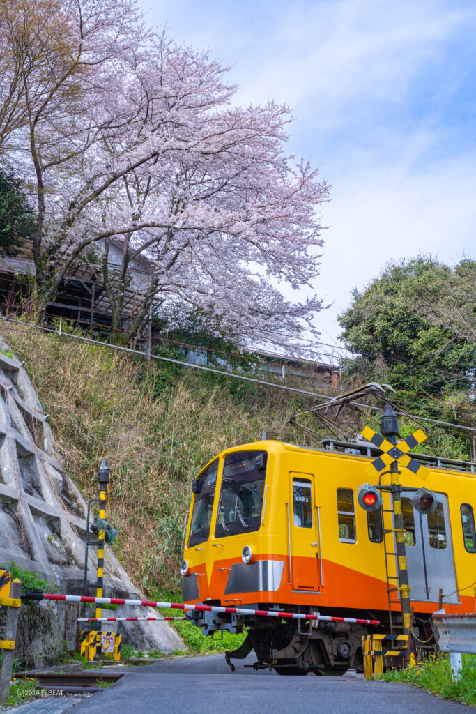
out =
[[[152,358],[152,359],[155,359],[155,360],[158,360],[158,361],[165,361],[165,362],[169,362],[169,363],[173,363],[173,364],[178,364],[178,365],[181,365],[181,366],[183,366],[183,367],[188,367],[188,368],[192,368],[192,369],[198,369],[198,370],[206,371],[206,372],[212,372],[212,373],[218,374],[218,375],[223,376],[223,377],[230,377],[230,378],[233,378],[233,379],[240,379],[240,380],[243,380],[243,381],[247,381],[247,382],[251,382],[251,383],[255,383],[255,384],[260,384],[260,385],[263,385],[263,386],[274,387],[274,388],[277,388],[277,389],[284,389],[285,391],[290,391],[290,392],[299,393],[299,394],[305,394],[305,395],[307,395],[307,396],[317,397],[318,399],[326,399],[326,400],[328,400],[328,399],[330,398],[328,394],[319,394],[318,392],[311,392],[311,391],[307,391],[307,390],[305,390],[305,389],[299,389],[299,388],[297,388],[297,387],[290,387],[290,386],[285,385],[285,384],[276,384],[275,382],[268,382],[268,381],[265,381],[265,380],[262,380],[262,379],[255,379],[255,378],[253,378],[253,377],[247,377],[247,376],[245,376],[244,374],[236,374],[236,373],[233,373],[233,372],[221,371],[221,370],[215,369],[215,368],[213,368],[213,367],[206,367],[206,366],[204,366],[204,365],[193,364],[193,363],[191,363],[191,362],[184,362],[184,361],[182,361],[182,360],[174,359],[174,358],[172,358],[172,357],[165,357],[165,356],[162,356],[162,355],[153,355],[153,354],[141,352],[141,351],[139,351],[139,350],[133,350],[133,349],[131,349],[131,348],[129,348],[129,347],[122,347],[122,346],[120,346],[120,345],[111,345],[111,344],[109,344],[109,343],[107,343],[107,342],[101,342],[100,340],[91,340],[90,338],[83,337],[83,336],[81,336],[81,335],[74,335],[74,334],[72,334],[72,333],[61,333],[61,335],[60,335],[60,334],[59,334],[59,331],[54,330],[53,328],[44,327],[44,326],[41,326],[41,325],[34,325],[33,323],[27,323],[27,322],[24,322],[24,321],[22,321],[22,320],[15,320],[14,318],[8,318],[8,317],[6,317],[6,316],[0,316],[0,319],[1,319],[1,320],[4,320],[4,321],[6,321],[6,322],[16,323],[16,324],[19,324],[19,325],[22,325],[22,326],[27,326],[27,327],[31,327],[31,328],[34,328],[34,329],[38,329],[38,330],[41,330],[41,331],[45,331],[45,332],[47,332],[47,333],[50,333],[50,334],[53,334],[53,335],[56,335],[56,336],[59,336],[59,337],[64,337],[64,338],[69,338],[69,339],[74,339],[74,340],[79,340],[79,341],[82,341],[82,342],[86,342],[86,343],[98,345],[98,346],[101,346],[101,347],[105,347],[105,348],[107,348],[107,349],[116,350],[116,351],[119,351],[119,352],[125,352],[125,353],[129,353],[129,354],[133,354],[133,355],[141,356],[141,357],[145,357],[145,358]],[[361,408],[371,409],[371,410],[373,410],[373,411],[383,411],[383,409],[382,409],[381,407],[378,407],[378,406],[373,406],[373,405],[369,405],[369,404],[361,404],[361,403],[358,403],[358,402],[350,402],[350,403],[353,404],[353,405],[355,405],[355,406],[361,407]],[[452,427],[452,428],[463,429],[463,430],[465,430],[465,431],[470,431],[470,432],[476,433],[476,428],[474,428],[474,427],[472,427],[472,426],[465,426],[465,425],[463,425],[463,424],[455,424],[455,423],[451,423],[451,422],[447,422],[447,421],[440,421],[440,420],[437,420],[437,419],[431,419],[431,418],[429,418],[429,417],[415,416],[415,415],[413,415],[413,414],[406,414],[406,413],[401,412],[401,411],[397,411],[397,416],[407,416],[407,417],[409,417],[409,418],[414,418],[414,419],[419,420],[419,421],[427,421],[427,422],[431,422],[431,423],[434,423],[434,424],[440,424],[441,426],[450,426],[450,427]]]

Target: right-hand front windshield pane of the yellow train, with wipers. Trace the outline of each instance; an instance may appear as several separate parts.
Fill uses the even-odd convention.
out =
[[[263,510],[265,451],[228,454],[223,464],[215,537],[258,531]]]

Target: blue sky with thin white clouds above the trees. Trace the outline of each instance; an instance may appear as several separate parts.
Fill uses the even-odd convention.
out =
[[[232,66],[240,104],[290,104],[290,151],[333,184],[315,291],[337,314],[392,258],[476,256],[476,3],[141,0]]]

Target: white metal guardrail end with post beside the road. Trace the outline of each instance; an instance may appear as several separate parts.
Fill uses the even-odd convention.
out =
[[[476,655],[476,613],[447,615],[444,610],[433,613],[435,636],[441,652],[450,653],[452,678],[461,677],[461,655]]]

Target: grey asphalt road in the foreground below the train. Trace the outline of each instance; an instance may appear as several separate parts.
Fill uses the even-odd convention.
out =
[[[250,655],[245,664],[253,663]],[[475,714],[402,684],[343,677],[282,677],[236,666],[223,655],[161,660],[134,668],[71,714]]]

